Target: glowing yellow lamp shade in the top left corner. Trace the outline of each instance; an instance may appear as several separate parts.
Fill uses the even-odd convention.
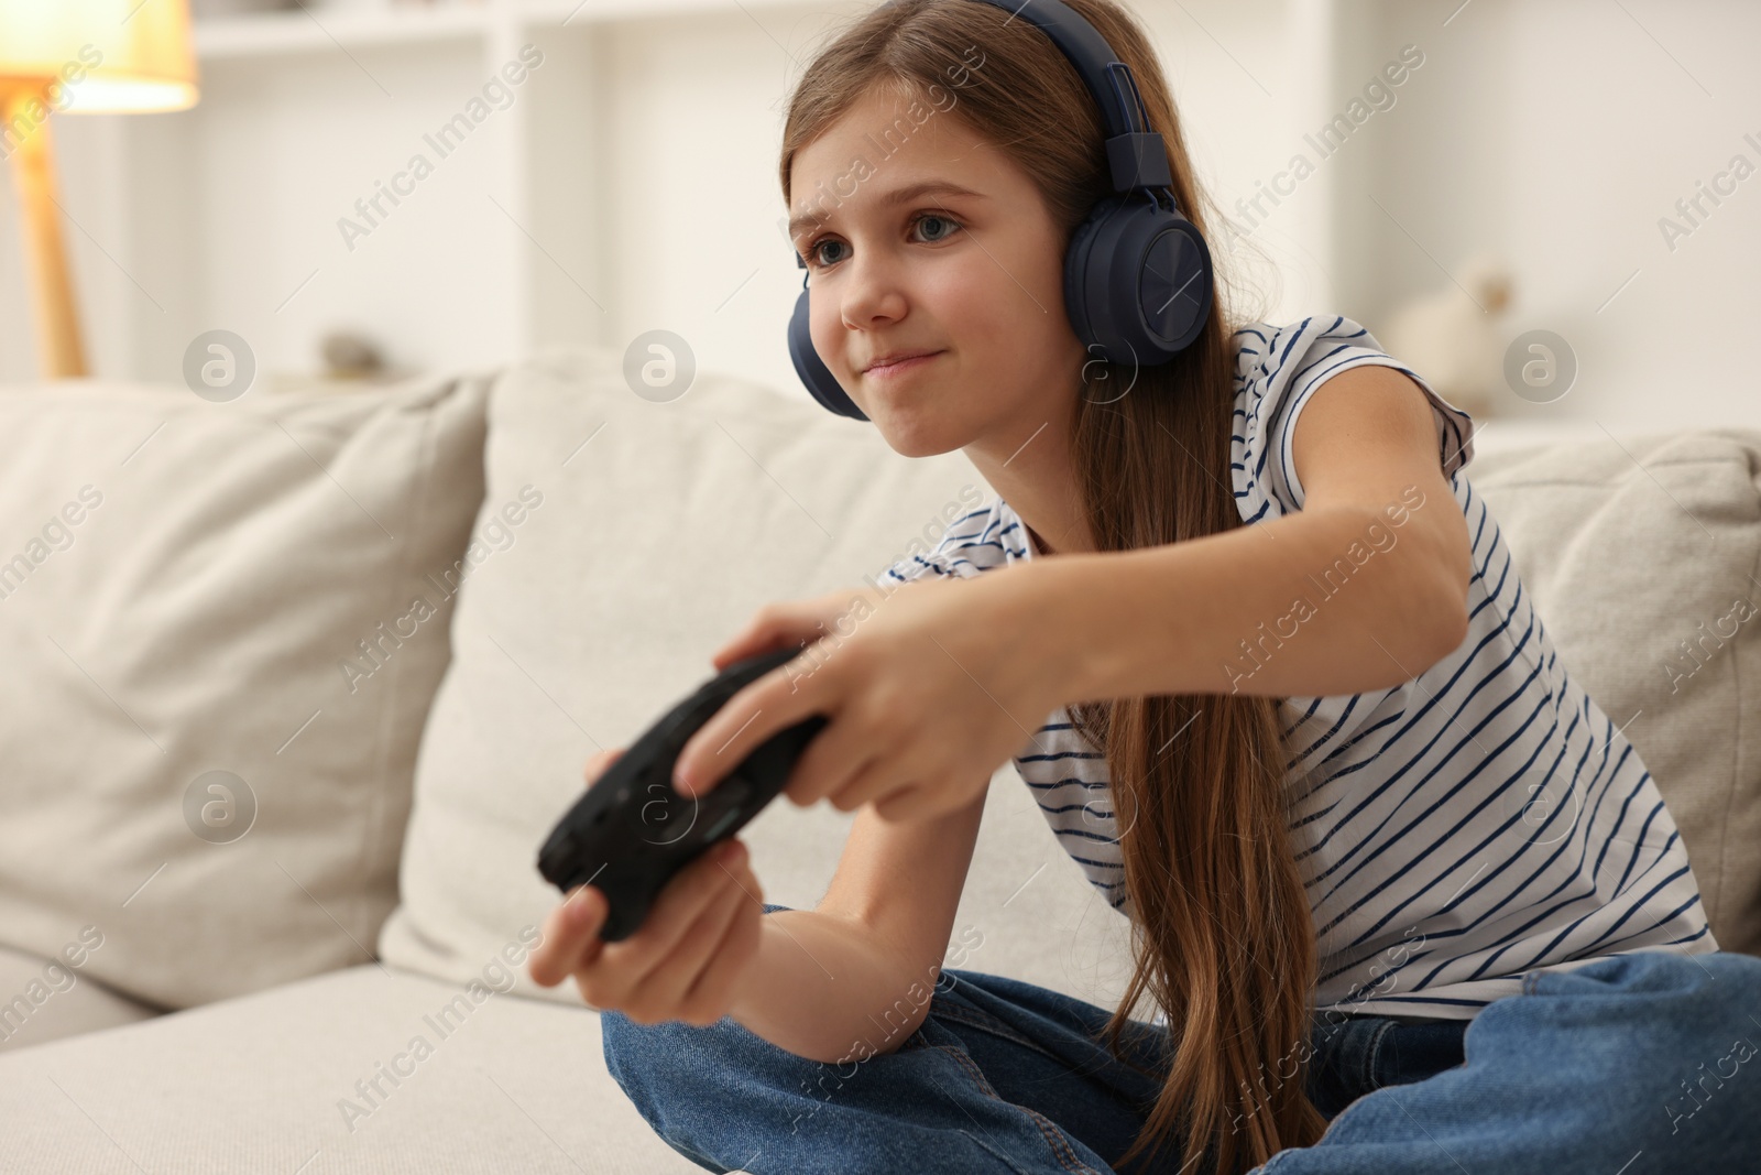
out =
[[[62,113],[195,104],[188,0],[0,0],[0,90]]]

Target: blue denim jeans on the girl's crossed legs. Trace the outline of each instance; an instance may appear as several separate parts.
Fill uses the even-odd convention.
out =
[[[787,907],[764,907],[777,909]],[[946,969],[896,1052],[842,1066],[733,1018],[641,1025],[604,1011],[601,1027],[606,1066],[637,1112],[710,1171],[1175,1175],[1171,1149],[1111,1166],[1159,1082],[1094,1039],[1108,1015],[1020,979]],[[1749,955],[1618,955],[1530,974],[1522,995],[1472,1022],[1335,1013],[1315,1018],[1310,1043],[1307,1092],[1328,1131],[1256,1171],[1643,1175],[1761,1163],[1761,958]],[[1157,1027],[1134,1022],[1122,1050],[1168,1071]]]

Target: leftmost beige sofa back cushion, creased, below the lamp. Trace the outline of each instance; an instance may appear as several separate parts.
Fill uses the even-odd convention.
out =
[[[0,941],[166,1008],[372,957],[484,389],[0,395]]]

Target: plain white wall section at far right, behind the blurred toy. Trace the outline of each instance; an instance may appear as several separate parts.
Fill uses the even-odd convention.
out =
[[[1493,247],[1516,271],[1507,333],[1557,331],[1581,365],[1567,396],[1513,396],[1513,416],[1617,432],[1761,425],[1761,379],[1740,358],[1761,310],[1761,174],[1708,203],[1673,252],[1657,227],[1735,153],[1761,167],[1743,141],[1761,143],[1761,5],[1474,0],[1444,28],[1458,4],[1342,12],[1342,42],[1359,56],[1405,41],[1428,56],[1374,127],[1374,157],[1354,160],[1418,243],[1359,192],[1342,194],[1340,248],[1354,257],[1342,307],[1374,331],[1396,299],[1448,282],[1426,252],[1456,266]]]

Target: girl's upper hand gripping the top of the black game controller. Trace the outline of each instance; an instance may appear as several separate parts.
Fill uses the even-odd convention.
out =
[[[715,654],[717,669],[778,647],[801,654],[727,699],[685,743],[674,786],[710,791],[771,735],[814,715],[828,724],[785,786],[801,805],[829,798],[886,819],[965,807],[991,772],[1078,696],[1079,645],[1057,622],[1037,567],[914,580],[880,594],[847,588],[761,608]],[[1053,571],[1048,567],[1048,571]]]

